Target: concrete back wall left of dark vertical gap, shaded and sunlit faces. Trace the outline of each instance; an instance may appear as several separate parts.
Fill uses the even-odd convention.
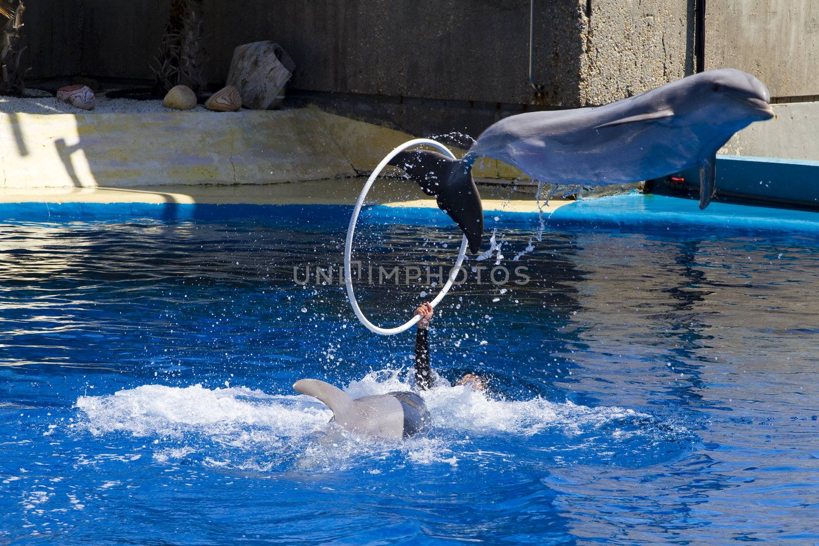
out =
[[[150,78],[169,3],[29,2],[32,76]],[[206,75],[223,83],[233,47],[274,39],[298,65],[292,88],[307,91],[600,104],[690,73],[689,4],[537,0],[538,97],[527,81],[528,0],[205,2]]]

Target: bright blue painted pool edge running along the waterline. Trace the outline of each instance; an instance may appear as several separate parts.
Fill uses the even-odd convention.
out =
[[[259,219],[298,223],[309,228],[314,219],[324,227],[346,228],[351,205],[216,205],[179,203],[2,203],[0,219],[15,222],[128,221],[131,219],[214,220]],[[492,228],[548,229],[614,228],[639,231],[702,231],[784,233],[816,236],[819,212],[713,202],[699,210],[697,201],[637,192],[574,201],[554,212],[485,210],[486,231]],[[373,205],[364,208],[363,223],[450,226],[435,208]]]

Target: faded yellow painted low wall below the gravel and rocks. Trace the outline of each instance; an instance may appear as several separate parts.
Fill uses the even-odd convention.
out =
[[[351,177],[369,172],[393,147],[413,138],[315,108],[0,116],[0,187],[7,189]],[[519,175],[494,160],[473,173]]]

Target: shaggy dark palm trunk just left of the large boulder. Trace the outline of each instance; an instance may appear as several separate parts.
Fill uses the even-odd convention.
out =
[[[154,58],[151,67],[159,93],[167,93],[179,84],[199,92],[205,85],[202,76],[205,54],[200,45],[203,35],[202,1],[171,1],[159,55]]]

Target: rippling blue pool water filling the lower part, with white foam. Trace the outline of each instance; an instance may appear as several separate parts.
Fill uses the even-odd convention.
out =
[[[542,241],[487,214],[502,257],[468,264],[509,282],[470,273],[437,310],[432,431],[371,442],[290,386],[411,388],[414,336],[364,330],[337,276],[301,284],[337,273],[348,210],[265,210],[0,223],[0,543],[819,543],[808,213],[568,211]],[[450,263],[446,223],[378,218],[364,264]],[[382,324],[436,290],[357,287]]]

